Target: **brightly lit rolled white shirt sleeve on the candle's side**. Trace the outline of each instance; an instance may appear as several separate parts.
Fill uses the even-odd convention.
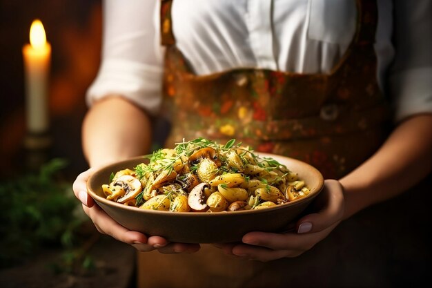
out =
[[[155,115],[161,104],[163,49],[159,1],[104,0],[101,65],[86,102],[121,95]]]

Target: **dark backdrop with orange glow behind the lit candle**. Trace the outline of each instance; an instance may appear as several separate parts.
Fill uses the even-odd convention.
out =
[[[41,19],[51,44],[49,84],[52,144],[43,155],[24,148],[25,85],[21,49],[30,25]],[[81,122],[85,93],[97,74],[101,46],[100,0],[0,1],[0,179],[32,168],[34,157],[63,157],[68,177],[84,171]],[[40,154],[40,153],[39,153]],[[42,159],[43,161],[43,159]],[[29,167],[30,166],[30,167]]]

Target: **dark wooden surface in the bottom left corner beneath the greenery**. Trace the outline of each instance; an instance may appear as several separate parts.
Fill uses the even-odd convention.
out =
[[[95,269],[78,274],[55,273],[50,266],[61,259],[61,249],[43,249],[17,267],[0,270],[1,288],[132,288],[135,287],[135,249],[102,236],[88,255]]]

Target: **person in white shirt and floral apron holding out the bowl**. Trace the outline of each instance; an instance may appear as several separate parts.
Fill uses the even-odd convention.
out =
[[[77,177],[74,191],[101,233],[139,251],[181,253],[140,253],[139,285],[389,285],[386,258],[366,258],[377,260],[366,268],[369,277],[355,272],[364,274],[358,259],[368,253],[349,267],[337,261],[346,259],[340,248],[362,247],[346,246],[352,235],[370,241],[356,233],[362,222],[349,218],[431,172],[429,1],[104,5],[103,61],[83,126],[92,168]],[[326,181],[315,210],[293,232],[257,231],[242,243],[215,244],[226,255],[121,227],[88,197],[86,179],[98,166],[148,153],[155,117],[173,125],[164,146],[235,137],[317,166]]]

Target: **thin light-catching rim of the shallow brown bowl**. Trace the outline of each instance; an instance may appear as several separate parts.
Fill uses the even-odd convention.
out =
[[[188,211],[188,212],[173,212],[173,211],[159,211],[159,210],[151,210],[151,209],[140,209],[139,207],[134,207],[134,206],[128,206],[125,204],[121,204],[118,202],[114,202],[111,200],[107,200],[104,197],[101,197],[99,195],[97,195],[97,193],[95,191],[93,191],[90,183],[92,182],[92,179],[94,179],[95,177],[97,177],[97,175],[99,175],[100,173],[102,173],[102,171],[108,169],[110,166],[121,166],[121,164],[126,164],[130,163],[130,162],[135,162],[138,160],[144,160],[146,158],[144,158],[144,155],[141,156],[135,156],[135,157],[130,157],[126,160],[121,160],[119,162],[112,162],[110,164],[106,164],[104,166],[99,166],[99,168],[97,168],[97,170],[92,173],[92,175],[90,175],[90,177],[88,177],[87,183],[86,183],[86,188],[87,188],[87,192],[90,195],[90,197],[93,198],[93,200],[95,200],[95,202],[97,202],[97,204],[102,203],[105,204],[107,206],[110,207],[117,207],[117,208],[121,208],[121,209],[126,209],[126,210],[130,210],[130,211],[135,211],[138,213],[155,213],[156,215],[173,215],[173,216],[182,216],[182,217],[197,217],[197,215],[200,216],[204,216],[204,217],[216,217],[216,216],[223,216],[223,215],[227,215],[227,216],[232,216],[232,215],[244,215],[244,214],[255,214],[255,213],[264,213],[265,211],[275,211],[278,209],[286,209],[286,207],[293,207],[293,206],[297,206],[299,204],[302,204],[304,201],[309,200],[310,198],[315,198],[324,188],[324,177],[322,175],[322,173],[316,169],[314,166],[312,166],[311,164],[308,164],[306,162],[303,162],[301,160],[297,160],[295,158],[292,157],[287,157],[284,155],[277,155],[277,154],[271,154],[271,153],[261,153],[261,152],[255,152],[257,155],[259,155],[259,157],[275,157],[277,156],[278,158],[285,158],[288,159],[291,162],[296,162],[297,164],[301,164],[304,166],[308,166],[309,169],[311,169],[311,171],[313,171],[313,173],[315,175],[317,175],[317,186],[316,189],[313,191],[313,193],[310,193],[308,195],[306,195],[303,198],[300,198],[299,200],[295,200],[293,202],[287,202],[284,204],[277,204],[273,207],[267,207],[266,209],[251,209],[251,210],[240,210],[240,211],[219,211],[219,212],[196,212],[196,211]],[[124,168],[126,169],[126,167]],[[295,173],[297,173],[296,171],[294,171]]]

